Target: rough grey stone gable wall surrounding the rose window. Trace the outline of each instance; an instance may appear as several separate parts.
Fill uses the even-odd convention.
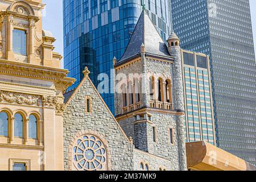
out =
[[[92,113],[85,113],[85,96],[92,97]],[[133,145],[122,133],[117,122],[98,97],[89,80],[85,80],[79,92],[64,110],[64,169],[69,169],[68,148],[72,138],[81,130],[91,130],[108,141],[112,170],[133,169]]]

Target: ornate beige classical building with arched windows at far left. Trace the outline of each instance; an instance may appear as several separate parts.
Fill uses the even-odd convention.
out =
[[[42,0],[0,2],[0,170],[63,169],[63,91]]]

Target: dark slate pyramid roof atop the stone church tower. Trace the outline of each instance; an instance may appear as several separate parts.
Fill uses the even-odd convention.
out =
[[[156,27],[144,10],[135,26],[133,35],[125,49],[125,53],[123,53],[123,56],[117,63],[121,63],[122,61],[139,55],[139,53],[141,53],[142,43],[145,46],[147,54],[170,58],[170,53],[168,52],[164,40],[161,38],[158,30],[156,30]]]

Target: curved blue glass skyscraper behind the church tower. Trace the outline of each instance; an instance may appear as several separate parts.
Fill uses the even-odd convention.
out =
[[[75,77],[76,86],[84,77],[87,66],[96,88],[98,83],[112,77],[113,57],[125,52],[143,7],[146,8],[160,35],[166,40],[170,34],[169,0],[63,0],[64,68]],[[144,5],[144,6],[142,6]],[[105,73],[106,75],[98,75]],[[108,77],[107,77],[108,75]],[[114,113],[114,97],[110,87],[103,88],[106,104]]]

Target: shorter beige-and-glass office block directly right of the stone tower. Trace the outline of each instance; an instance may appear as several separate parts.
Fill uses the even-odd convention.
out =
[[[185,101],[185,141],[216,144],[209,56],[181,50]]]

